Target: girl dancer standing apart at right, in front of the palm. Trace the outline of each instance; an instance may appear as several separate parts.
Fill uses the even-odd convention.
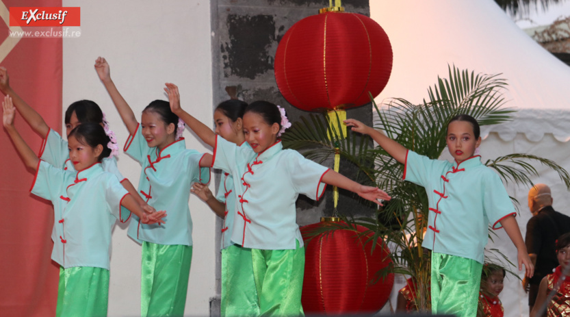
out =
[[[363,123],[344,121],[352,131],[367,134],[398,162],[405,164],[404,180],[424,186],[430,214],[422,246],[432,250],[431,301],[434,314],[475,316],[487,244],[488,223],[501,226],[518,250],[522,264],[534,270],[515,220],[515,208],[500,177],[474,156],[479,147],[479,124],[468,115],[455,116],[445,138],[455,162],[430,160],[409,151]]]

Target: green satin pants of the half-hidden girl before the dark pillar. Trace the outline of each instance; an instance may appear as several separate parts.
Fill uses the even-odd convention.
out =
[[[233,244],[222,249],[222,316],[259,316],[251,249]]]

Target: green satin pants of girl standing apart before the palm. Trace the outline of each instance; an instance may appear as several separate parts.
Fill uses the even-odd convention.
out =
[[[475,317],[483,264],[432,252],[432,313]]]

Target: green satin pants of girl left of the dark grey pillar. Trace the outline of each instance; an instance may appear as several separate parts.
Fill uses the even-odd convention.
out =
[[[142,317],[183,316],[192,246],[142,242]]]

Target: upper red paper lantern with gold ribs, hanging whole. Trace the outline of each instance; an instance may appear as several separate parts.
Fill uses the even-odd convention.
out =
[[[386,86],[392,48],[385,31],[362,14],[324,12],[295,23],[279,42],[275,79],[302,110],[346,109],[370,102]]]

